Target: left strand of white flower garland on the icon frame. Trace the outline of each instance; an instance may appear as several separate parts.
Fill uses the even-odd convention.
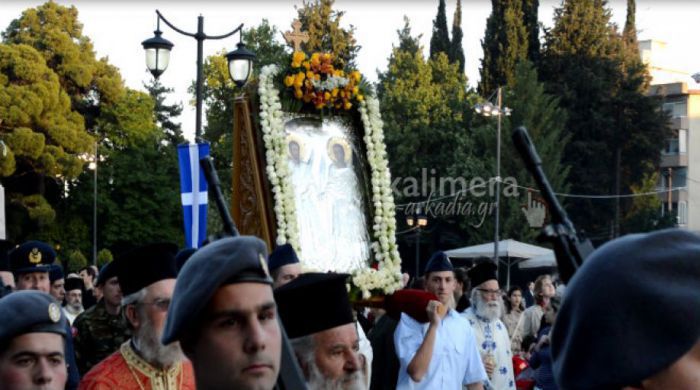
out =
[[[287,169],[282,104],[280,103],[279,91],[274,84],[277,72],[279,72],[279,68],[276,65],[267,65],[260,70],[260,85],[258,87],[260,125],[265,142],[267,177],[272,184],[272,194],[275,199],[277,245],[290,243],[297,253],[301,254],[296,208],[294,207],[294,189],[289,180]]]

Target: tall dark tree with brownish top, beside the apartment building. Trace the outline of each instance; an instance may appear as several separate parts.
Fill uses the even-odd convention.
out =
[[[546,36],[542,79],[569,112],[571,142],[564,161],[576,178],[572,191],[628,192],[649,173],[648,167],[657,166],[659,140],[668,134],[658,102],[645,95],[646,69],[636,50],[625,49],[605,1],[564,1],[554,21]],[[593,236],[606,236],[614,206],[611,201],[575,199],[569,211]],[[627,207],[622,204],[621,215]]]

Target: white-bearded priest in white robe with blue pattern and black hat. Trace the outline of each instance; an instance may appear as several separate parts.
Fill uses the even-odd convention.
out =
[[[491,261],[479,263],[469,270],[468,275],[474,288],[471,292],[471,307],[462,315],[472,326],[488,374],[484,389],[513,389],[513,356],[508,330],[500,320],[503,299],[496,279],[496,264]]]

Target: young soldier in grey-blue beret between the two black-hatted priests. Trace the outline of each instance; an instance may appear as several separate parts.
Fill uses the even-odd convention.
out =
[[[228,237],[180,271],[162,342],[180,341],[197,388],[275,386],[282,336],[265,259],[260,239]]]

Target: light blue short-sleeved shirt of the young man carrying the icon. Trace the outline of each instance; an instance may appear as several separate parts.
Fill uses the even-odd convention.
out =
[[[450,309],[438,325],[428,372],[420,382],[414,382],[408,375],[408,364],[423,343],[428,326],[401,313],[394,332],[400,365],[397,389],[461,390],[463,385],[487,379],[469,322]]]

